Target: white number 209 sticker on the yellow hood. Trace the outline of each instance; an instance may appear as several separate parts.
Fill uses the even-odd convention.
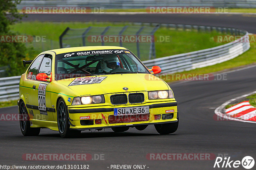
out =
[[[83,77],[76,78],[68,86],[101,83],[106,77]]]

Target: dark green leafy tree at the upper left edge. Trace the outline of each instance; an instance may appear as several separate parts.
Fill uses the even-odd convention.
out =
[[[8,76],[20,75],[25,70],[22,60],[28,55],[28,50],[24,43],[5,41],[7,36],[15,36],[10,30],[10,25],[20,21],[24,16],[16,8],[20,0],[0,1],[0,66],[8,66]]]

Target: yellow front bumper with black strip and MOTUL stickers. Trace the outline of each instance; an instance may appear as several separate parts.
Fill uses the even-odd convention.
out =
[[[116,123],[113,121],[118,116],[114,116],[114,108],[124,108],[124,107],[136,107],[136,106],[149,106],[148,115],[134,115],[133,120],[135,122],[122,122]],[[166,113],[166,110],[171,110]],[[152,103],[143,103],[143,104],[132,104],[132,105],[119,105],[119,106],[98,106],[98,107],[68,107],[69,112],[69,124],[70,129],[75,130],[89,130],[89,129],[101,129],[101,128],[111,128],[117,126],[136,126],[142,124],[159,124],[159,123],[168,123],[168,122],[177,122],[178,121],[178,109],[177,102],[164,101],[164,102],[152,102]],[[163,119],[165,114],[171,114],[172,116],[168,119]],[[155,115],[158,115],[159,120],[155,120]],[[159,116],[160,115],[160,116]],[[86,117],[85,121],[90,122],[90,125],[81,125],[84,120],[80,120],[80,117]],[[125,115],[123,118],[132,117],[131,115]],[[134,118],[138,117],[138,118]],[[144,117],[141,119],[141,117]],[[101,120],[101,124],[96,124],[96,120]]]

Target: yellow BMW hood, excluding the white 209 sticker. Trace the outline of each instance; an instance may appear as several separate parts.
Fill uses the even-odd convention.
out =
[[[93,76],[90,76],[93,77]],[[77,96],[102,95],[107,93],[126,92],[123,88],[128,88],[127,92],[132,91],[153,91],[168,90],[166,83],[152,74],[110,74],[98,75],[106,77],[100,83],[81,84],[68,86],[75,78],[58,80],[57,82],[67,86],[77,93]]]

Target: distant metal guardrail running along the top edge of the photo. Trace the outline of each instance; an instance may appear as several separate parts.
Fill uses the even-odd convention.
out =
[[[150,6],[207,6],[228,8],[255,8],[255,0],[25,0],[17,5],[25,7],[98,7],[106,9],[147,8]]]

